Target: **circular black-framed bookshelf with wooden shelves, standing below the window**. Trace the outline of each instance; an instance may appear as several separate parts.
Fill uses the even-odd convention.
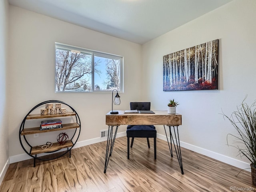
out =
[[[56,103],[64,104],[65,106],[69,107],[69,110],[68,110],[69,112],[66,112],[64,114],[60,114],[60,113],[58,113],[58,114],[46,114],[46,115],[38,114],[37,113],[38,108],[45,108],[45,104],[48,104],[48,103],[55,103],[55,106],[56,106]],[[65,124],[62,124],[62,128],[40,130],[41,122],[38,122],[39,121],[38,119],[40,119],[42,121],[44,119],[54,120],[54,118],[62,118],[62,117],[65,117],[64,122],[66,122]],[[31,120],[31,122],[34,123],[34,126],[37,126],[37,127],[28,128],[28,126],[25,126],[25,123],[26,123],[27,120]],[[33,140],[33,139],[36,140],[37,138],[32,138],[31,136],[26,138],[27,135],[39,134],[39,133],[46,133],[47,134],[47,132],[49,132],[49,134],[52,134],[53,131],[64,132],[63,130],[70,130],[70,129],[72,129],[70,132],[73,132],[73,136],[70,137],[70,140],[68,140],[68,142],[66,142],[64,145],[60,145],[58,142],[55,142],[55,143],[52,144],[51,147],[46,148],[46,149],[42,149],[41,147],[36,147],[36,146],[33,147],[30,144],[30,140]],[[54,156],[54,158],[40,158],[40,157],[35,157],[36,154],[54,153],[54,152],[57,152],[60,149],[66,148],[67,151],[64,152],[64,153],[69,152],[70,157],[71,157],[71,149],[76,144],[76,142],[78,140],[78,137],[80,135],[80,131],[81,131],[80,118],[79,118],[78,114],[76,113],[76,111],[70,105],[68,105],[68,104],[66,104],[62,101],[58,101],[58,100],[48,100],[48,101],[41,102],[40,104],[37,104],[36,106],[34,106],[30,110],[30,112],[28,114],[26,114],[24,120],[22,121],[22,123],[20,125],[19,138],[20,138],[20,144],[21,144],[22,148],[24,149],[24,151],[29,156],[34,158],[34,167],[35,167],[36,166],[36,159],[38,159],[38,160],[53,160],[53,159],[57,159],[57,158],[59,158],[63,155],[63,153],[60,153],[60,154],[57,154],[57,156]],[[57,134],[57,133],[55,133],[55,134]],[[21,137],[23,137],[23,138],[21,138]],[[45,140],[46,140],[46,138],[43,138],[43,141],[41,141],[41,142],[45,142],[45,143],[49,142],[48,140],[47,141],[45,141]],[[25,145],[26,147],[24,147],[24,144],[26,144]],[[35,142],[34,145],[42,146],[41,144],[38,144],[37,142]],[[30,150],[26,150],[26,148],[28,148],[27,146],[29,146]]]

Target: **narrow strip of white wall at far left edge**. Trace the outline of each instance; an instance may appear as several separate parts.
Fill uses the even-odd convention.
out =
[[[6,67],[8,60],[8,1],[0,1],[0,183],[8,168],[8,105]]]

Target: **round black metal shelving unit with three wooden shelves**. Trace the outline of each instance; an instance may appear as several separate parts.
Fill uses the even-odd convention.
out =
[[[68,106],[72,112],[66,112],[65,114],[48,114],[48,115],[41,115],[41,114],[36,114],[36,115],[30,115],[31,112],[33,112],[36,108],[39,108],[40,106],[44,105],[44,104],[48,104],[48,103],[61,103],[64,104],[66,106]],[[42,118],[56,118],[56,117],[68,117],[68,116],[75,116],[76,118],[76,123],[70,123],[70,124],[63,124],[63,128],[56,128],[56,129],[50,129],[50,130],[42,130],[40,131],[40,127],[35,127],[35,128],[25,128],[25,122],[26,120],[30,120],[30,119],[42,119]],[[53,131],[57,131],[57,130],[67,130],[67,129],[75,129],[74,130],[74,134],[72,136],[72,138],[67,142],[67,145],[63,145],[63,146],[57,146],[57,150],[42,150],[42,152],[34,152],[33,153],[33,149],[36,147],[33,147],[27,140],[26,135],[30,135],[30,134],[34,134],[34,133],[44,133],[44,132],[53,132]],[[20,132],[19,132],[19,139],[20,139],[20,145],[22,146],[23,150],[26,152],[26,154],[28,154],[29,156],[31,156],[32,158],[34,158],[34,167],[35,167],[35,160],[54,160],[57,158],[60,158],[61,156],[67,154],[68,152],[70,152],[70,157],[71,157],[71,149],[74,147],[74,145],[76,144],[79,135],[80,135],[80,131],[81,131],[81,123],[80,123],[80,118],[77,114],[77,112],[74,110],[74,108],[72,108],[70,105],[59,101],[59,100],[48,100],[48,101],[44,101],[41,102],[39,104],[37,104],[36,106],[34,106],[29,112],[28,114],[26,114],[26,116],[24,117],[21,125],[20,125]],[[22,141],[22,136],[24,138],[24,140]],[[30,151],[28,151],[24,145],[28,145],[30,147]],[[55,143],[55,146],[57,145],[57,143]],[[37,154],[40,153],[53,153],[53,152],[57,152],[63,148],[67,148],[66,151],[63,151],[63,153],[61,153],[60,155],[53,157],[53,158],[42,158],[42,157],[37,157]]]

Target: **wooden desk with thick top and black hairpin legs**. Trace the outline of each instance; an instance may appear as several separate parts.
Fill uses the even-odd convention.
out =
[[[110,114],[110,112],[106,114],[106,125],[108,125],[108,140],[107,140],[107,148],[106,148],[104,173],[106,173],[108,160],[112,154],[118,126],[120,125],[164,125],[164,130],[165,130],[168,146],[170,149],[171,157],[173,157],[172,155],[172,142],[174,143],[173,135],[175,136],[176,146],[174,145],[174,148],[180,164],[181,173],[184,174],[181,152],[180,152],[180,139],[178,134],[178,126],[182,124],[182,116],[180,114],[168,114],[167,110],[166,111],[154,110],[154,112],[155,112],[154,114],[138,114],[138,113],[124,113],[124,111],[118,111],[118,114]],[[168,141],[165,125],[167,125],[170,130],[170,143]],[[116,126],[116,130],[113,137],[114,126]],[[171,127],[173,127],[173,133],[171,131]]]

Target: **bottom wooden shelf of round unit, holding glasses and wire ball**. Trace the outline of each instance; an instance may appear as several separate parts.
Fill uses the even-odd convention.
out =
[[[41,147],[32,147],[30,154],[31,155],[36,155],[36,154],[40,154],[40,153],[47,153],[47,152],[53,152],[56,150],[60,150],[63,148],[68,148],[68,147],[72,147],[73,143],[71,140],[68,140],[64,145],[60,145],[58,142],[57,143],[53,143],[51,147],[46,148],[46,149],[42,149]]]

